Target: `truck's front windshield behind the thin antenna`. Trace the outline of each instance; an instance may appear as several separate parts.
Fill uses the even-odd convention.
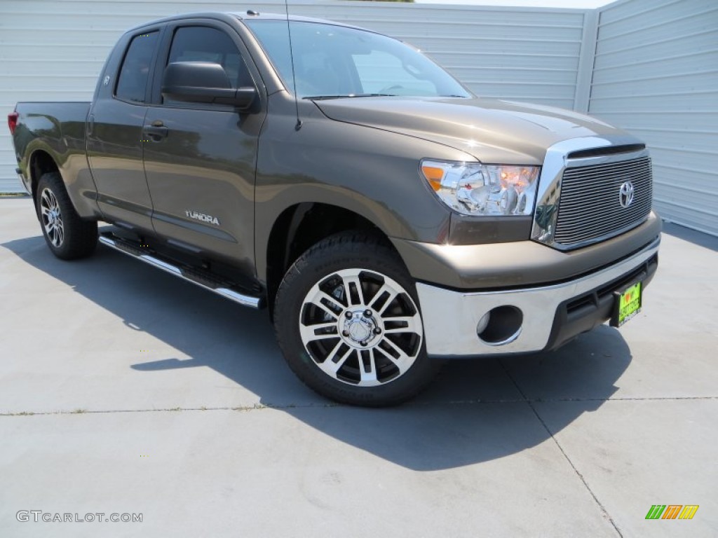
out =
[[[286,20],[244,20],[292,90]],[[290,22],[297,95],[304,99],[411,95],[471,97],[441,67],[408,45],[373,32]]]

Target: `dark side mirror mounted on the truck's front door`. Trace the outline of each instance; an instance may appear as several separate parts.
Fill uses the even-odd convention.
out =
[[[219,103],[247,110],[256,88],[232,88],[224,68],[213,62],[172,62],[164,69],[162,97],[187,103]]]

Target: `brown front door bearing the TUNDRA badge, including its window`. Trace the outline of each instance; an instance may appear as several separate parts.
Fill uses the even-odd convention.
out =
[[[231,105],[162,98],[169,62],[215,62],[234,88],[255,86],[252,113]],[[168,25],[145,125],[144,166],[154,205],[154,229],[174,246],[254,273],[254,174],[266,113],[264,87],[236,30],[209,19]]]

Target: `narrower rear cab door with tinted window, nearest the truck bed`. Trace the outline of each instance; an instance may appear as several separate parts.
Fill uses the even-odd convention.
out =
[[[144,174],[144,119],[161,27],[126,34],[111,55],[88,116],[88,161],[98,204],[131,229],[152,230],[152,202]]]

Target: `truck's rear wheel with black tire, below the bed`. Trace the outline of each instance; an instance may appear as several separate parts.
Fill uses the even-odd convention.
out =
[[[40,176],[36,211],[45,242],[57,258],[77,260],[95,251],[97,222],[80,218],[57,172]]]

